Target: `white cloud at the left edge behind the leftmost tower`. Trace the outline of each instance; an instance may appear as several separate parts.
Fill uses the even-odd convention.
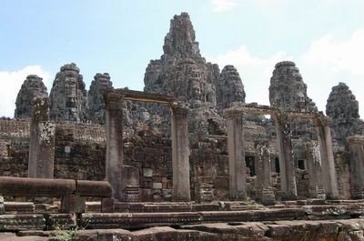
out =
[[[14,117],[16,95],[27,75],[38,75],[48,86],[49,74],[41,65],[30,65],[17,71],[0,71],[0,116]],[[49,88],[48,88],[49,92]]]

